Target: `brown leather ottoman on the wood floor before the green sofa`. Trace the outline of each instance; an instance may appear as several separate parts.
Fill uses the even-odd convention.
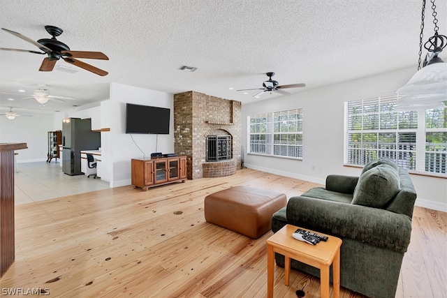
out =
[[[257,239],[270,230],[272,214],[286,204],[284,193],[235,186],[205,197],[205,220]]]

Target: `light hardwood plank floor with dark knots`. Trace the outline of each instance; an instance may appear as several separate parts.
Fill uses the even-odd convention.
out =
[[[243,169],[149,191],[132,186],[20,204],[6,290],[48,297],[266,297],[268,232],[257,240],[205,221],[203,199],[245,185],[299,195],[316,184]],[[180,211],[180,212],[177,212]],[[179,214],[181,213],[181,214]],[[447,214],[416,207],[396,297],[446,297]],[[319,297],[318,278],[276,267],[274,297]],[[332,294],[332,287],[331,287]],[[341,297],[362,297],[341,289]]]

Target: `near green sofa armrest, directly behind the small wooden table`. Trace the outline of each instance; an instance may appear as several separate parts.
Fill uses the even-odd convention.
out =
[[[288,200],[286,216],[291,225],[401,253],[410,242],[411,219],[384,209],[297,196]]]

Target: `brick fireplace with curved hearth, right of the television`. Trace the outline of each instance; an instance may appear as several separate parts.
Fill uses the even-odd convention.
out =
[[[196,91],[174,95],[174,149],[187,156],[188,179],[229,176],[240,169],[240,117],[240,101]],[[207,143],[207,137],[216,142]],[[213,150],[216,156],[207,158]]]

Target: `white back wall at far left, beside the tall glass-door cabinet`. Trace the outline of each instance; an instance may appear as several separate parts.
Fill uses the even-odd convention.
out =
[[[8,110],[1,110],[1,114]],[[48,153],[48,131],[53,131],[52,114],[17,112],[27,114],[9,120],[0,116],[0,143],[27,143],[28,149],[17,151],[17,163],[46,161]]]

